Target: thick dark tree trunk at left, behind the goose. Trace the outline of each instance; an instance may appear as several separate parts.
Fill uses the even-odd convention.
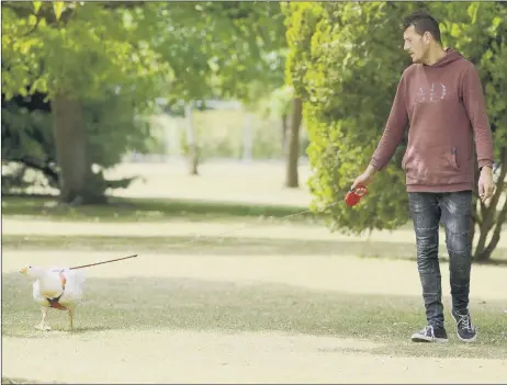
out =
[[[97,203],[105,200],[94,191],[82,105],[78,100],[56,95],[52,102],[53,136],[59,168],[61,203]]]

